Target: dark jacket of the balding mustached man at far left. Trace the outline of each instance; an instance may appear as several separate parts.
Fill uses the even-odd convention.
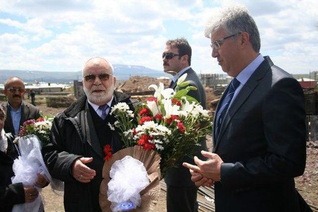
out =
[[[40,117],[39,108],[33,106],[30,103],[22,101],[21,103],[21,119],[20,119],[20,126],[23,125],[23,122],[30,120],[30,119],[38,119]],[[9,110],[8,102],[3,105],[4,111],[6,113],[6,119],[4,122],[4,131],[6,133],[12,133],[14,135],[14,128],[12,124],[12,118]]]

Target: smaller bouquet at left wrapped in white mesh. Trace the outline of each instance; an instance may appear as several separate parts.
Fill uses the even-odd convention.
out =
[[[41,153],[42,146],[49,141],[51,126],[52,123],[47,118],[28,120],[23,123],[19,137],[14,140],[19,156],[12,165],[14,172],[12,183],[33,186],[38,174],[43,175],[48,182],[52,180]],[[36,189],[41,190],[38,187]],[[40,207],[41,203],[41,196],[38,196],[33,202],[14,205],[12,212],[39,212],[43,210]]]

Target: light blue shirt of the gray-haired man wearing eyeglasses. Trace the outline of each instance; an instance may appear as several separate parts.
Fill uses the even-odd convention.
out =
[[[239,80],[239,87],[235,90],[234,96],[232,98],[232,101],[229,105],[229,108],[231,107],[232,103],[236,99],[236,97],[239,94],[239,91],[242,89],[244,84],[247,82],[249,77],[254,73],[254,71],[259,67],[259,65],[264,61],[264,57],[259,54],[245,69],[240,71],[239,75],[236,77]]]

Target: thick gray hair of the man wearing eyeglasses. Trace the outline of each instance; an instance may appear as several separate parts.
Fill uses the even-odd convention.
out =
[[[216,18],[210,18],[204,29],[206,37],[210,38],[211,33],[224,28],[229,35],[239,32],[249,34],[249,42],[255,52],[259,53],[260,37],[256,23],[246,7],[235,6],[223,9]]]

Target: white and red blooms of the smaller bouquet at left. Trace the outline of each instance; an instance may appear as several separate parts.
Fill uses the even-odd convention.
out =
[[[19,131],[19,136],[35,135],[41,141],[42,146],[50,140],[53,117],[40,117],[36,120],[31,119],[23,123]]]

